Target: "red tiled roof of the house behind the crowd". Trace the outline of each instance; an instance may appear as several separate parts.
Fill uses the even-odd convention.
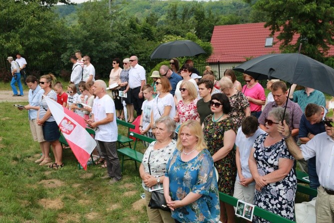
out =
[[[270,37],[271,30],[269,27],[265,28],[264,24],[265,22],[216,25],[211,37],[213,53],[208,62],[245,62],[246,57],[280,53],[280,41],[276,37],[279,32],[275,32],[273,36],[273,46],[265,47],[266,38]],[[298,37],[299,35],[294,37],[293,44]],[[329,55],[334,55],[334,47],[329,50]]]

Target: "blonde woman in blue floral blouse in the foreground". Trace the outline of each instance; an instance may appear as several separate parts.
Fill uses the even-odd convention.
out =
[[[199,122],[183,122],[163,182],[166,202],[175,222],[219,221],[217,178],[206,147]]]

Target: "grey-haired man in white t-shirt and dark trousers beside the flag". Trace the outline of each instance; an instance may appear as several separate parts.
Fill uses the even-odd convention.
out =
[[[117,156],[117,124],[115,116],[115,103],[112,98],[106,94],[107,85],[103,80],[96,80],[92,86],[96,95],[94,99],[91,119],[86,123],[95,128],[95,139],[101,148],[102,155],[107,162],[107,175],[102,178],[111,178],[109,184],[121,180],[121,168]]]

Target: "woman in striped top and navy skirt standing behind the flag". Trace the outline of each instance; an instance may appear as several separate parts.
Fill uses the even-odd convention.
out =
[[[57,101],[57,93],[51,88],[52,82],[54,82],[55,79],[55,76],[51,73],[42,75],[39,79],[39,86],[44,90],[43,95],[45,97]],[[75,86],[74,88],[76,89]],[[60,132],[57,122],[52,116],[50,109],[48,109],[44,96],[41,96],[38,101],[39,109],[37,112],[37,124],[42,125],[44,139],[52,146],[55,160],[54,163],[49,165],[49,167],[57,169],[64,166],[64,163],[62,162],[62,147],[59,142]],[[44,152],[48,153],[48,151]],[[41,163],[47,164],[49,162],[51,162],[51,158],[44,158]]]

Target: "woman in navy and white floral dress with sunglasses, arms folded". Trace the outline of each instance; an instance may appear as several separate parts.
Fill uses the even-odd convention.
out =
[[[255,140],[248,163],[256,182],[254,204],[294,220],[297,190],[294,157],[277,129],[283,114],[283,107],[275,107],[268,113],[265,120],[267,133]],[[284,120],[289,124],[288,111]],[[256,217],[255,222],[267,221]]]

